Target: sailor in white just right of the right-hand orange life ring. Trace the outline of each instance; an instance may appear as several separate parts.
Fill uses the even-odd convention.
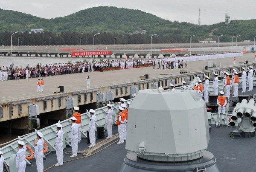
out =
[[[63,165],[63,130],[62,125],[60,123],[56,124],[56,138],[55,138],[55,148],[56,148],[56,156],[58,163],[55,166]]]

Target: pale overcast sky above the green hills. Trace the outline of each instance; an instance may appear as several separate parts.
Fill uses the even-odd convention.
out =
[[[0,0],[0,8],[14,10],[37,17],[64,17],[95,6],[116,6],[139,9],[166,20],[198,24],[201,8],[201,25],[230,20],[256,19],[256,0]]]

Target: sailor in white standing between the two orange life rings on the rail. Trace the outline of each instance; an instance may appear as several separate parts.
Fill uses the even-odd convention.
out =
[[[44,171],[44,152],[43,152],[43,147],[44,147],[44,135],[39,132],[38,130],[35,130],[37,133],[37,139],[38,141],[35,143],[35,161],[36,161],[36,167],[38,172],[43,172]]]

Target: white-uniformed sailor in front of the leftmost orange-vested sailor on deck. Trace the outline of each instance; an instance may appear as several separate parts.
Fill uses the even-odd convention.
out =
[[[70,140],[71,140],[71,147],[72,147],[72,155],[71,158],[77,156],[77,149],[78,149],[78,127],[79,124],[76,124],[76,118],[71,117],[71,131],[70,131]]]

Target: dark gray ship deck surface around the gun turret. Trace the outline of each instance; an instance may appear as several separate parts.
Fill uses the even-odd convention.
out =
[[[256,93],[255,87],[253,91],[243,93],[250,95]],[[239,95],[241,90],[239,90]],[[230,95],[230,99],[238,100]],[[256,155],[256,137],[233,139],[228,135],[235,130],[232,127],[218,127],[212,126],[210,133],[210,141],[208,151],[215,155],[217,166],[221,172],[256,172],[255,155]],[[117,133],[117,127],[113,126],[113,133]],[[105,133],[107,137],[107,133]],[[102,139],[96,141],[99,142]],[[87,149],[87,140],[79,144],[79,150]],[[71,147],[64,149],[64,152],[71,151]],[[88,158],[83,158],[76,161],[64,163],[63,166],[53,167],[47,172],[118,172],[122,166],[126,155],[125,144],[113,144],[107,149],[92,155]],[[78,155],[76,158],[82,157]],[[44,169],[57,163],[55,152],[47,155],[44,160]],[[70,155],[64,154],[64,161],[70,160]],[[35,160],[32,161],[33,166],[27,165],[26,172],[36,172]]]

